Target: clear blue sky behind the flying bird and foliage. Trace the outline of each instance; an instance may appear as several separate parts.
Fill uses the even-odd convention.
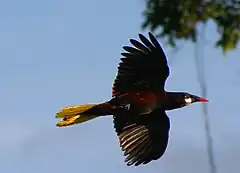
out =
[[[144,1],[9,0],[0,2],[0,167],[3,173],[208,171],[201,104],[168,112],[171,136],[162,159],[126,167],[112,118],[55,127],[66,105],[111,97],[121,47],[137,38]],[[240,51],[222,56],[207,27],[204,46],[218,173],[239,170]],[[200,95],[194,45],[168,48],[166,88]]]

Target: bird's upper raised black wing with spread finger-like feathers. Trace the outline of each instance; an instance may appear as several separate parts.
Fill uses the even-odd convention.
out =
[[[113,83],[112,95],[126,92],[163,91],[169,67],[163,48],[149,32],[150,41],[139,34],[142,43],[130,39],[135,47],[124,46],[123,58]]]

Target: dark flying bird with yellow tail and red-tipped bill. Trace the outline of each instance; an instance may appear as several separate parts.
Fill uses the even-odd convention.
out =
[[[57,112],[57,127],[112,116],[127,166],[146,165],[160,159],[169,142],[170,120],[166,112],[207,99],[188,92],[165,89],[170,75],[167,56],[153,33],[138,34],[123,46],[112,97],[101,103],[65,106]]]

